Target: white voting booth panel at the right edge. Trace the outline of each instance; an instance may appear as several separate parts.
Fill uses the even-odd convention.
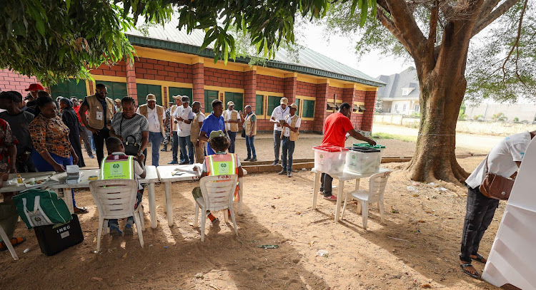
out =
[[[536,138],[521,162],[482,279],[536,290]]]

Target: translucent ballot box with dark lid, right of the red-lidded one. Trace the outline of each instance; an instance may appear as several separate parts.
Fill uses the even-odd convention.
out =
[[[344,171],[365,174],[378,172],[379,163],[382,161],[379,149],[367,147],[349,147],[344,162]]]

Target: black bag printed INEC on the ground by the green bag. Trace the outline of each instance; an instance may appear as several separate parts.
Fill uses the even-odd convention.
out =
[[[72,217],[73,219],[65,224],[34,227],[37,242],[43,254],[52,256],[84,241],[78,217],[76,214],[72,214]]]

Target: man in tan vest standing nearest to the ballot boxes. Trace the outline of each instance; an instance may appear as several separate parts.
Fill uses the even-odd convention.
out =
[[[302,118],[296,115],[298,105],[289,105],[290,115],[282,122],[283,130],[281,132],[281,140],[283,143],[283,169],[279,172],[280,175],[286,174],[292,177],[292,155],[294,154],[294,142],[298,140],[299,126],[302,125]]]

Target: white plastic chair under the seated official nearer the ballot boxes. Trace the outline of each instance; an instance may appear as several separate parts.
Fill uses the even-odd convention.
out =
[[[237,221],[234,219],[233,195],[237,187],[238,175],[215,175],[205,176],[199,180],[202,198],[198,198],[195,203],[194,227],[197,227],[199,209],[201,209],[201,242],[204,242],[204,227],[207,221],[206,212],[217,212],[219,210],[230,209],[231,219],[234,225],[234,233],[238,236]],[[227,222],[227,211],[224,212],[224,219]]]

